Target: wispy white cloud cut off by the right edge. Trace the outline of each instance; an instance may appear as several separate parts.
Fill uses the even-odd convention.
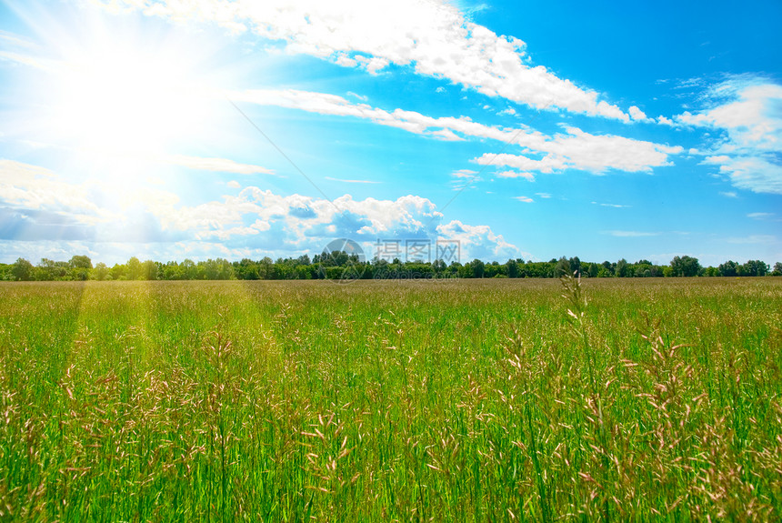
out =
[[[734,186],[782,194],[782,85],[733,76],[707,92],[711,108],[676,116],[680,125],[722,131],[705,165],[719,167]]]

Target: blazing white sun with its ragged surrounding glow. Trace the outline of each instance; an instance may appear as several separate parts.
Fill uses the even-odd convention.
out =
[[[145,18],[86,10],[37,22],[45,67],[29,85],[25,125],[83,159],[175,154],[210,123],[231,78],[214,34]]]

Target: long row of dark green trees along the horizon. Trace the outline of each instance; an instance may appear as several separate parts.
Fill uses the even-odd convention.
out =
[[[582,262],[577,256],[563,256],[547,262],[519,258],[505,263],[485,263],[475,259],[464,265],[458,262],[446,265],[442,260],[363,262],[358,256],[336,251],[312,259],[305,255],[276,261],[265,257],[257,261],[245,258],[230,262],[217,258],[160,263],[132,257],[124,264],[108,267],[104,263],[93,265],[88,256],[73,256],[69,261],[44,258],[37,265],[25,258],[13,264],[0,264],[2,281],[523,278],[560,277],[566,273],[581,277],[765,277],[782,276],[782,263],[769,267],[760,260],[744,264],[727,261],[718,267],[702,267],[695,257],[676,256],[670,264],[660,266],[648,260],[596,263]]]

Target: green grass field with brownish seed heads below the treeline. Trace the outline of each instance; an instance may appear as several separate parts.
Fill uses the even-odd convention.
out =
[[[563,292],[4,284],[0,520],[782,519],[782,278]]]

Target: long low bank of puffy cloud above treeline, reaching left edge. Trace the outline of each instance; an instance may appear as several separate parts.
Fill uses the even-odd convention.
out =
[[[237,195],[186,206],[175,193],[156,186],[101,193],[111,190],[69,183],[40,166],[0,160],[0,239],[90,241],[93,248],[121,242],[157,243],[161,248],[205,242],[220,243],[229,253],[281,256],[319,252],[336,237],[369,244],[377,238],[435,241],[453,232],[456,236],[450,239],[464,241],[463,251],[470,256],[505,256],[515,249],[488,226],[443,226],[442,213],[421,196],[356,200],[345,195],[330,202],[247,186]],[[53,222],[56,228],[47,227]],[[35,234],[25,236],[25,231]]]

